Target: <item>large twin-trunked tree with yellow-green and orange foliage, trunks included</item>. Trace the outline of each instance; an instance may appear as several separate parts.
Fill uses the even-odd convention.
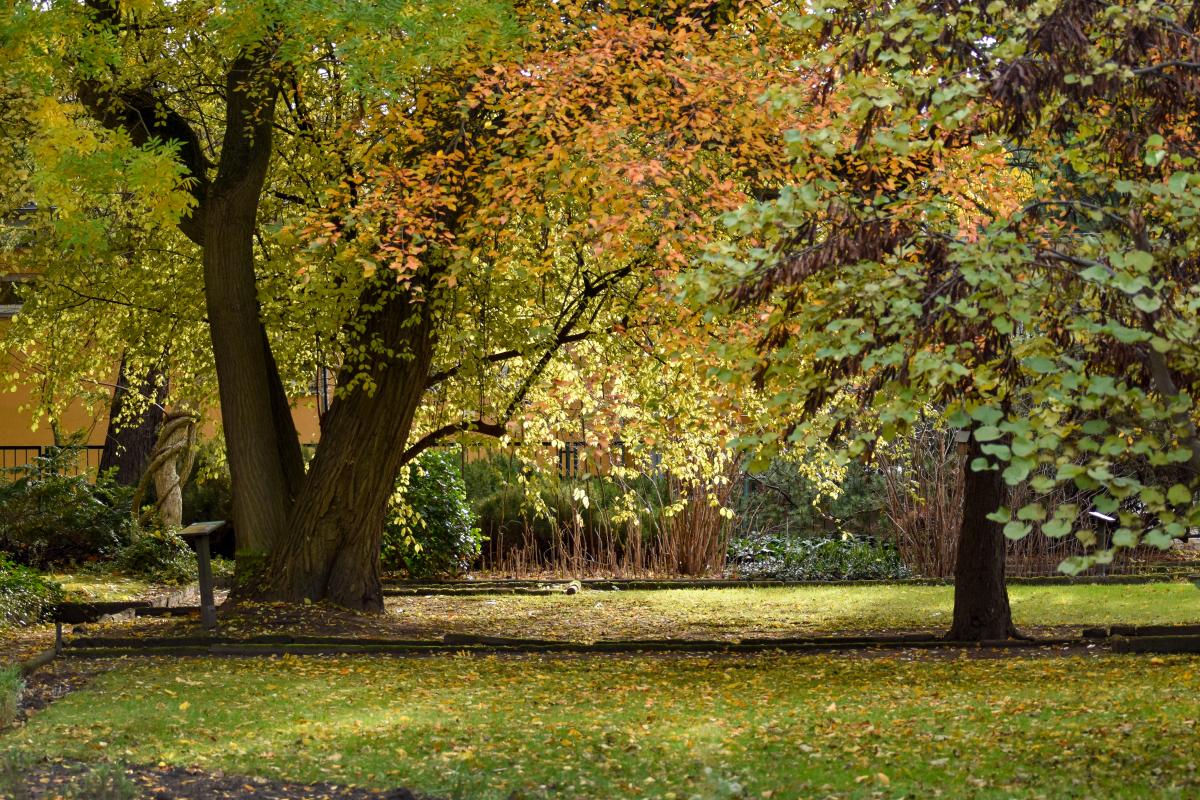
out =
[[[391,483],[424,447],[557,437],[599,385],[683,425],[671,391],[707,365],[661,380],[661,288],[784,182],[787,126],[758,103],[804,41],[780,12],[18,4],[13,80],[40,109],[23,192],[42,254],[71,255],[23,341],[59,325],[70,374],[132,350],[144,374],[166,354],[175,398],[215,384],[244,573],[270,559],[268,594],[377,606]],[[98,323],[113,306],[126,323]],[[306,473],[286,398],[318,367],[338,392]],[[629,426],[617,407],[590,435]]]

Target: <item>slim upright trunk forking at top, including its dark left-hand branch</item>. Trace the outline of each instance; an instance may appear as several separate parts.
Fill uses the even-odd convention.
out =
[[[84,4],[86,37],[115,37],[125,28],[119,4]],[[278,84],[287,72],[276,59],[282,26],[266,24],[263,37],[245,44],[226,73],[221,156],[210,179],[205,148],[192,124],[152,88],[115,85],[82,73],[80,102],[110,130],[140,146],[178,145],[194,206],[180,231],[202,249],[204,294],[221,415],[233,483],[239,579],[251,577],[259,557],[282,540],[292,503],[304,479],[300,443],[278,368],[259,314],[254,276],[254,223],[272,152]],[[250,567],[247,570],[247,567]]]

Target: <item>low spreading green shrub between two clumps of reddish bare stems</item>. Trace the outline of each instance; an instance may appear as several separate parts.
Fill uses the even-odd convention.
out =
[[[894,547],[859,539],[739,537],[738,576],[770,581],[889,581],[911,577]]]

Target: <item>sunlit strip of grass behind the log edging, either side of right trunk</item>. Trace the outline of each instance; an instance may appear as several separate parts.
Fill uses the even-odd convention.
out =
[[[738,638],[949,627],[950,587],[800,587],[395,597],[396,621],[426,633],[566,639]],[[1200,622],[1190,583],[1009,587],[1018,626]]]

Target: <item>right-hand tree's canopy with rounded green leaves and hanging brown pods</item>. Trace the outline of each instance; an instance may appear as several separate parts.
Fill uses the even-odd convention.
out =
[[[1187,4],[818,2],[802,178],[700,279],[791,425],[869,453],[923,419],[1094,546],[1196,524],[1196,19]],[[760,354],[761,353],[761,357]],[[740,355],[739,355],[740,354]],[[760,443],[762,444],[762,443]],[[769,444],[769,443],[767,443]],[[1111,536],[1097,512],[1115,517]]]

